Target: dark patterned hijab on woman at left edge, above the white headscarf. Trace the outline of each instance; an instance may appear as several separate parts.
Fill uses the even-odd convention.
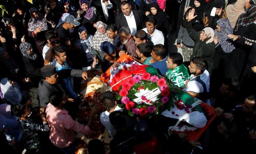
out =
[[[2,61],[2,63],[4,63],[8,67],[8,69],[10,69],[12,76],[16,76],[16,73],[18,73],[20,66],[12,57],[10,57],[10,55],[8,59],[4,59],[4,51],[5,49],[0,47],[0,61]]]

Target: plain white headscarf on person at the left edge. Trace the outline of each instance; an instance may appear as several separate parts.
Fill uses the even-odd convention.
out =
[[[20,104],[22,94],[20,92],[20,86],[18,85],[18,83],[15,82],[15,86],[13,87],[6,77],[1,80],[0,86],[4,99],[14,105]]]

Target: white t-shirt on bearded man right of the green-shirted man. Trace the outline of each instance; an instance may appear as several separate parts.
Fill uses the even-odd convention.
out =
[[[200,79],[205,83],[206,85],[206,91],[204,91],[204,87],[201,83],[199,83],[196,80],[192,80],[196,77],[200,77]],[[203,93],[203,92],[209,92],[210,89],[210,75],[209,72],[207,70],[204,70],[204,73],[202,73],[201,75],[198,75],[194,77],[194,75],[192,74],[190,76],[190,80],[188,81],[187,86],[183,89],[184,91],[192,91],[195,93]],[[206,100],[206,103],[208,105],[210,105],[210,100]]]

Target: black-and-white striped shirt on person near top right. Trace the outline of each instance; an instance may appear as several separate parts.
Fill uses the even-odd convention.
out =
[[[191,48],[195,46],[195,41],[189,36],[186,28],[182,27],[181,25],[178,33],[178,38],[177,38],[177,44],[180,44],[180,43],[183,43],[187,47],[191,47]]]

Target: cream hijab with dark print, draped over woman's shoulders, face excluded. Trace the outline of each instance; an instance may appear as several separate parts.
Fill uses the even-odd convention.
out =
[[[105,30],[105,33],[104,34],[101,34],[99,31],[98,31],[98,28],[100,27],[104,27],[106,29],[107,25],[104,24],[103,22],[99,21],[99,22],[96,22],[96,28],[97,28],[97,31],[96,33],[94,34],[94,37],[93,37],[93,40],[92,40],[92,47],[98,51],[101,51],[100,50],[100,45],[102,42],[104,41],[108,41],[110,43],[113,43],[113,39],[110,39],[108,38],[108,34],[106,33],[106,30]]]

